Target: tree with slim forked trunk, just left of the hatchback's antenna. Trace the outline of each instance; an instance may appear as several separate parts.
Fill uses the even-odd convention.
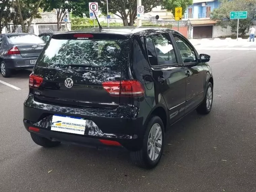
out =
[[[72,11],[72,15],[83,17],[83,14],[89,14],[89,1],[88,0],[45,0],[44,11],[57,11],[57,25],[58,31],[61,29],[61,22],[65,15]]]

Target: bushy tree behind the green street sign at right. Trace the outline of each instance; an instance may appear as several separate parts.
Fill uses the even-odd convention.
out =
[[[256,15],[256,0],[220,0],[220,7],[211,13],[211,19],[217,21],[217,25],[223,28],[231,27],[231,32],[237,31],[237,20],[230,19],[230,11],[247,11],[247,19],[239,20],[238,33],[244,36],[253,24]]]

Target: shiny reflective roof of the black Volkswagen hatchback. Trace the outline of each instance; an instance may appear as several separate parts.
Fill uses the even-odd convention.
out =
[[[119,34],[119,35],[131,35],[135,33],[140,33],[140,32],[150,32],[150,31],[156,31],[156,30],[172,30],[169,28],[160,28],[160,27],[134,27],[134,26],[129,26],[129,27],[103,27],[101,30],[99,28],[88,28],[88,29],[83,29],[83,30],[76,30],[76,31],[68,31],[68,32],[63,32],[62,34],[67,34],[67,33],[111,33],[111,34]]]

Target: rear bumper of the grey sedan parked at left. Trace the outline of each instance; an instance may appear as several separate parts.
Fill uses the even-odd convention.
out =
[[[35,64],[30,64],[30,60],[36,60],[37,57],[11,56],[3,58],[9,69],[32,69]]]

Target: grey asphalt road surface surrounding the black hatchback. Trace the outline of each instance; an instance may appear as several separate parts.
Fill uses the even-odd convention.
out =
[[[23,127],[29,71],[0,83],[0,191],[256,191],[256,54],[210,54],[214,103],[172,126],[160,164],[134,167],[125,152],[61,145],[43,149]]]

